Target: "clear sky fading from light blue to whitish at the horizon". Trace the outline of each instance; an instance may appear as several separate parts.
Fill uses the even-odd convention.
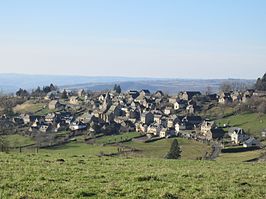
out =
[[[265,0],[1,1],[0,73],[257,78],[265,10]]]

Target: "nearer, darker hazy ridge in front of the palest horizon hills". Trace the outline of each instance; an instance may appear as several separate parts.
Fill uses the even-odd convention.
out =
[[[123,91],[127,90],[141,90],[149,89],[151,92],[156,90],[162,90],[168,94],[176,94],[179,91],[200,91],[206,92],[209,87],[212,92],[218,92],[221,84],[240,83],[247,86],[252,86],[255,80],[240,80],[240,79],[150,79],[139,81],[114,81],[114,82],[99,82],[99,83],[86,83],[65,85],[62,88],[65,89],[87,89],[87,90],[106,90],[112,89],[114,84],[119,84]]]

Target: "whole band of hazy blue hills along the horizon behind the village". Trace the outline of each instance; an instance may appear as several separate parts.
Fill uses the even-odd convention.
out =
[[[255,80],[243,79],[166,79],[166,78],[137,78],[137,77],[93,77],[93,76],[59,76],[59,75],[25,75],[25,74],[0,74],[0,90],[14,93],[19,88],[31,90],[37,86],[53,83],[61,89],[88,89],[106,90],[120,84],[123,91],[129,89],[141,90],[143,88],[154,92],[162,90],[174,94],[182,90],[198,90],[205,92],[210,87],[217,92],[224,82],[242,83],[252,85]]]

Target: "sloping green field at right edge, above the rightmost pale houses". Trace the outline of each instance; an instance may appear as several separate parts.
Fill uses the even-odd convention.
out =
[[[266,114],[245,113],[233,115],[216,121],[217,124],[230,124],[241,127],[254,136],[261,136],[261,132],[266,128]]]

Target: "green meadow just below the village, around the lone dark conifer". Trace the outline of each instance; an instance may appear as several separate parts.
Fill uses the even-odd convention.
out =
[[[132,133],[130,133],[132,134]],[[133,133],[137,135],[137,133]],[[133,136],[131,135],[131,136]],[[116,136],[115,136],[116,137]],[[42,149],[41,152],[47,153],[59,153],[59,154],[72,154],[72,155],[99,155],[100,153],[110,154],[117,153],[118,146],[116,145],[105,145],[103,138],[98,138],[98,144],[85,144],[81,139],[77,142],[71,142],[64,146],[52,148],[52,149]],[[120,139],[119,139],[120,140]],[[134,149],[138,149],[138,152],[130,152],[122,154],[126,157],[143,157],[143,158],[164,158],[165,154],[169,151],[173,139],[164,139],[151,143],[140,143],[140,142],[126,142],[121,146],[128,146]],[[106,139],[109,142],[109,139]],[[198,143],[195,141],[178,138],[178,142],[182,150],[182,159],[196,159],[198,157],[204,156],[207,151],[210,151],[210,147]]]

